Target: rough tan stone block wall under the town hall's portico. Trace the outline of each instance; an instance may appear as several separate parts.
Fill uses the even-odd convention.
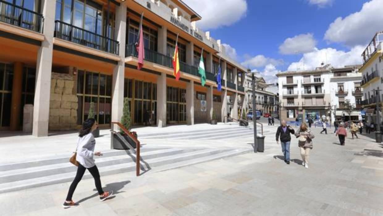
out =
[[[74,80],[72,74],[52,73],[49,130],[76,129],[78,101]]]

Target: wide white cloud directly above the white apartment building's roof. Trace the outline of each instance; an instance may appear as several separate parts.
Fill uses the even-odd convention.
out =
[[[287,70],[315,69],[320,67],[321,63],[331,64],[335,68],[341,68],[345,65],[362,64],[361,54],[363,49],[363,46],[355,46],[350,51],[345,52],[334,48],[315,48],[315,51],[303,54],[299,62],[291,63]]]

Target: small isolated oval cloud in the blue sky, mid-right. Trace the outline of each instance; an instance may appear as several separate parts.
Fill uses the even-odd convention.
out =
[[[281,54],[301,54],[314,50],[317,41],[313,34],[296,35],[293,38],[287,38],[282,45],[279,46]]]

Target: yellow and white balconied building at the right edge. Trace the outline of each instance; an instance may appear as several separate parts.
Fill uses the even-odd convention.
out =
[[[376,102],[381,106],[383,99],[383,31],[377,32],[362,53],[363,65],[359,69],[362,74],[361,87],[364,100],[363,111],[369,123],[376,123]],[[381,115],[380,115],[381,117]],[[381,119],[380,121],[381,122]]]

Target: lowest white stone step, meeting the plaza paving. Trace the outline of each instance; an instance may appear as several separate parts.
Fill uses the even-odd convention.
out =
[[[148,164],[149,167],[153,169],[154,167],[164,166],[171,163],[178,163],[178,162],[182,162],[186,160],[194,160],[196,158],[212,158],[212,157],[215,158],[214,155],[219,155],[229,151],[231,150],[230,149],[203,149],[203,150],[195,150],[193,152],[176,154],[172,156],[152,158],[149,160],[145,160],[145,163],[141,162],[141,168],[147,169],[146,164]],[[214,160],[214,159],[211,159],[211,160]],[[202,160],[200,161],[203,162]],[[133,162],[133,160],[128,163],[120,163],[120,164],[115,164],[115,165],[110,165],[105,167],[99,167],[101,176],[124,173],[124,172],[135,171],[135,170],[136,170],[136,163]],[[0,184],[0,193],[69,182],[74,179],[75,175],[76,175],[76,171],[71,171],[67,173],[60,173],[55,175],[41,176],[38,178],[29,178],[29,179],[20,180],[20,181],[2,183]],[[83,178],[92,178],[92,176],[90,175],[90,173],[85,172]]]

